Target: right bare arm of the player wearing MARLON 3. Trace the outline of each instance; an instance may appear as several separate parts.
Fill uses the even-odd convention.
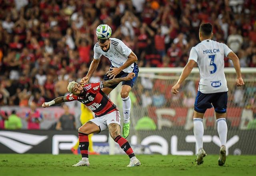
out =
[[[241,70],[240,70],[240,63],[239,63],[238,57],[236,56],[236,54],[234,52],[230,52],[230,53],[228,53],[228,58],[230,60],[232,60],[234,68],[236,70],[236,85],[243,86],[244,80],[242,79],[242,74],[241,74]]]

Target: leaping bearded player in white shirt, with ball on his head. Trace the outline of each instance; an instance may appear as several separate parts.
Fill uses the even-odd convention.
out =
[[[134,73],[135,77],[132,80],[123,81],[121,88],[121,98],[123,102],[124,112],[124,124],[122,136],[127,138],[130,132],[130,109],[131,100],[129,92],[134,86],[134,82],[138,76],[138,66],[136,64],[137,56],[132,52],[128,46],[126,46],[121,40],[117,38],[110,38],[112,30],[107,24],[101,24],[96,28],[96,35],[98,36],[98,42],[94,45],[94,59],[90,65],[87,75],[82,78],[81,84],[86,84],[92,74],[98,67],[100,57],[106,56],[110,62],[110,70],[104,76],[104,81],[113,78],[121,78],[127,76],[129,73]],[[118,84],[114,84],[110,87],[103,88],[102,91],[108,95]]]

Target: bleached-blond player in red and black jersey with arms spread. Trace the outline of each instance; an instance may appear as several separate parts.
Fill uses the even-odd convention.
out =
[[[79,148],[82,154],[82,160],[73,166],[89,166],[88,159],[88,147],[89,140],[88,135],[92,133],[100,133],[106,129],[109,129],[110,136],[116,143],[126,152],[130,158],[130,164],[128,167],[139,166],[140,161],[134,155],[134,152],[129,142],[120,136],[120,115],[116,108],[116,105],[108,99],[108,96],[102,92],[101,89],[113,86],[122,81],[129,81],[135,77],[134,73],[129,73],[126,77],[115,78],[108,81],[102,81],[92,84],[80,85],[74,81],[68,84],[68,92],[71,94],[68,96],[61,96],[55,98],[50,102],[45,102],[42,107],[46,108],[53,104],[60,104],[62,102],[70,102],[77,100],[86,105],[90,110],[95,113],[95,117],[89,120],[78,129]]]

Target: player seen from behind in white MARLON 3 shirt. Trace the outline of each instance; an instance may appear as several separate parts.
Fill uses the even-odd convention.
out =
[[[203,149],[203,117],[207,108],[214,107],[217,130],[220,137],[220,157],[219,166],[223,166],[226,161],[226,141],[228,127],[226,123],[226,110],[228,102],[228,86],[224,74],[224,56],[232,60],[236,69],[236,84],[243,86],[239,59],[226,46],[212,39],[212,24],[201,24],[199,29],[200,43],[192,47],[188,58],[188,63],[184,67],[180,79],[172,87],[172,93],[178,94],[178,89],[182,82],[188,77],[193,67],[198,64],[200,82],[194,107],[194,135],[196,137],[196,147],[198,150],[197,164],[203,163],[206,152]]]

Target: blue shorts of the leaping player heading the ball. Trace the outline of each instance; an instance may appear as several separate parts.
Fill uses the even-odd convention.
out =
[[[112,68],[113,66],[111,65],[110,67]],[[138,65],[137,65],[136,63],[134,63],[134,69],[133,69],[132,72],[135,73],[135,77],[132,78],[132,80],[123,81],[123,82],[122,82],[122,85],[128,85],[128,86],[131,86],[131,87],[134,86],[135,80],[136,80],[136,78],[137,78],[137,76],[138,76],[138,73],[139,73],[139,68],[138,68]],[[129,74],[129,73],[126,73],[126,72],[124,72],[124,71],[121,71],[118,75],[116,75],[115,78],[123,78],[123,77],[126,77],[128,74]],[[104,75],[104,81],[111,80],[111,79],[112,79],[112,78],[109,78],[109,76],[107,76],[107,74]],[[117,85],[118,85],[118,84],[115,84],[115,85],[113,85],[113,86],[110,86],[109,88],[114,89],[114,88],[116,88]]]

